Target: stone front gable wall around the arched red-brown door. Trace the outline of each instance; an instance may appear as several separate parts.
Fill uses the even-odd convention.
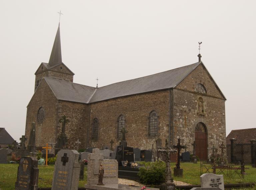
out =
[[[194,92],[195,85],[205,86],[207,94]],[[202,65],[192,71],[173,90],[174,96],[174,137],[181,138],[187,144],[188,151],[193,150],[191,143],[195,140],[195,127],[203,122],[207,128],[208,147],[215,147],[224,142],[226,145],[225,99],[217,90],[212,79]],[[204,114],[198,112],[198,99],[204,102]],[[177,139],[174,138],[174,143]],[[208,155],[211,151],[208,151]]]

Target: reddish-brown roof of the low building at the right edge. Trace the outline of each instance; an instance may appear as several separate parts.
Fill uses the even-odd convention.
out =
[[[226,138],[227,144],[230,144],[232,138],[237,140],[236,143],[250,143],[251,139],[256,139],[256,128],[232,130]]]

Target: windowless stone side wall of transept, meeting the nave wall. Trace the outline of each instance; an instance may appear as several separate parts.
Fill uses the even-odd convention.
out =
[[[66,135],[69,146],[78,139],[81,142],[79,148],[87,147],[87,132],[89,125],[89,105],[75,102],[58,102],[58,121],[66,115],[69,122],[66,124]],[[61,133],[61,124],[58,123],[58,134]]]

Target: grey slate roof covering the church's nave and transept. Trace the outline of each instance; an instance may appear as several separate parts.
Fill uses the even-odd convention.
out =
[[[191,65],[99,88],[47,77],[44,77],[44,79],[58,100],[88,104],[122,96],[174,88],[201,63],[200,61]]]

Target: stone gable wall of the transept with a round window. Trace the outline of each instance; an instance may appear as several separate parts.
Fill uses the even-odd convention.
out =
[[[27,106],[25,137],[26,146],[29,142],[29,135],[32,122],[36,124],[36,146],[45,146],[53,142],[56,136],[56,108],[57,98],[51,91],[45,80],[42,80],[35,94]],[[37,113],[40,107],[45,109],[45,117],[40,124],[37,121]]]

